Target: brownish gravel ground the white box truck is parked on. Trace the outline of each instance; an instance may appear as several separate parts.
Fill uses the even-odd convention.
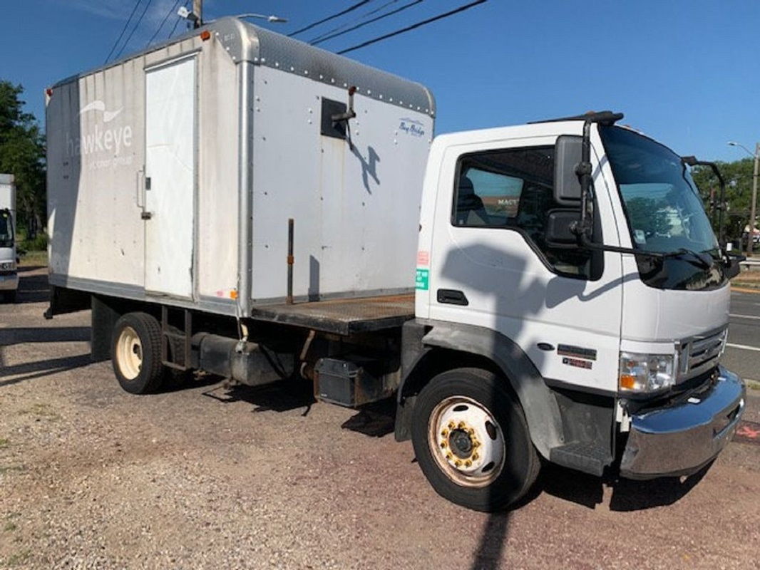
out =
[[[0,306],[0,568],[760,568],[760,445],[684,482],[549,467],[521,508],[473,513],[382,408],[126,394],[90,363],[89,314],[45,321],[44,270],[23,277]]]

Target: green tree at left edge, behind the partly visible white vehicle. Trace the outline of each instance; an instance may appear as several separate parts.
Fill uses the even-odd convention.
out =
[[[46,217],[45,139],[31,113],[24,112],[24,87],[0,80],[0,173],[16,179],[19,225],[33,238]]]

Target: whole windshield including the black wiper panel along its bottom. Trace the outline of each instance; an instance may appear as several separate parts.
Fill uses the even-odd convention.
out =
[[[673,254],[660,263],[636,261],[644,283],[660,289],[721,287],[720,248],[681,157],[651,138],[600,127],[636,249]]]

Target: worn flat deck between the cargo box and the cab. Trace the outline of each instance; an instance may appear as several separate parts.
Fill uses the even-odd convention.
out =
[[[414,295],[330,299],[253,307],[251,318],[334,334],[381,331],[414,318]]]

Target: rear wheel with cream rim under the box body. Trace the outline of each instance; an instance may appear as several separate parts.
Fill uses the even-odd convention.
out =
[[[161,327],[144,312],[130,312],[116,321],[111,345],[113,372],[131,394],[157,391],[163,382]]]

